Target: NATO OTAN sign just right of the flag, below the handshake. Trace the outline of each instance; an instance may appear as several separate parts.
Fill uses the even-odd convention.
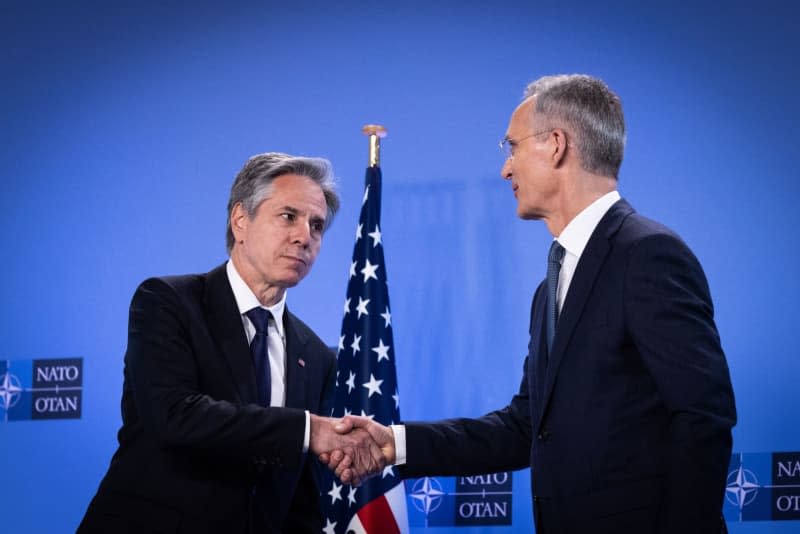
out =
[[[512,473],[406,481],[412,527],[511,524]]]

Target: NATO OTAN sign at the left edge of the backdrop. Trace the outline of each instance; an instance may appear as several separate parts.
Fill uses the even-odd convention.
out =
[[[83,358],[0,360],[0,419],[80,419]]]

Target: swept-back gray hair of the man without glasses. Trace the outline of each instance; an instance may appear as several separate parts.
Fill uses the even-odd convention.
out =
[[[324,158],[290,156],[280,152],[256,154],[247,160],[231,186],[226,236],[228,253],[233,249],[235,242],[231,230],[231,213],[234,206],[241,202],[245,213],[252,219],[256,216],[261,203],[272,193],[272,181],[287,174],[305,176],[320,186],[325,195],[325,204],[328,206],[325,229],[331,225],[333,217],[339,210],[339,194],[336,192],[336,180],[330,161]]]

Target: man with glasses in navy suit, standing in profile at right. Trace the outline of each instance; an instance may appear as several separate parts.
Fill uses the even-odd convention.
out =
[[[616,191],[625,125],[600,80],[528,86],[501,145],[517,213],[545,222],[552,267],[533,298],[519,392],[478,419],[384,429],[404,476],[531,467],[539,534],[709,533],[721,521],[728,367],[686,244]],[[322,459],[345,480],[355,462]]]

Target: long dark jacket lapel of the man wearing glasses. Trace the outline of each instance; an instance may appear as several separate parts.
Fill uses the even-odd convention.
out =
[[[536,428],[541,424],[541,420],[547,411],[547,404],[553,393],[558,369],[569,345],[569,340],[580,321],[583,308],[592,292],[597,275],[605,263],[609,250],[611,250],[611,238],[619,229],[622,221],[631,213],[633,213],[633,208],[630,204],[625,200],[618,200],[600,219],[597,228],[595,228],[581,254],[581,258],[575,268],[575,274],[572,276],[572,282],[570,282],[569,291],[567,291],[567,298],[561,307],[561,314],[558,317],[556,335],[553,339],[553,350],[550,353],[544,379],[542,410],[539,412]]]

